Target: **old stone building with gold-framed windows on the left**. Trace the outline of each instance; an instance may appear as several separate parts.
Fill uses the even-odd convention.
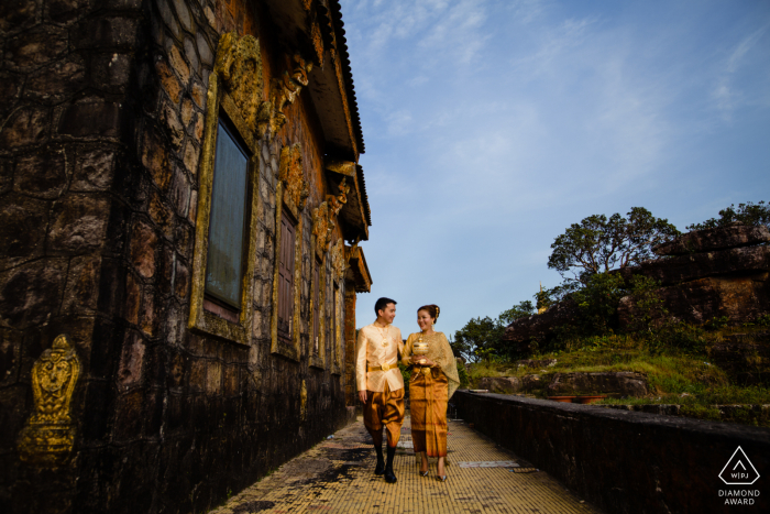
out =
[[[0,2],[3,512],[206,511],[348,422],[372,280],[341,18]]]

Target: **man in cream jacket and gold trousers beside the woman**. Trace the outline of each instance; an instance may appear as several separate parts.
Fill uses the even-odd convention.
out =
[[[402,331],[394,327],[396,302],[380,298],[374,304],[377,319],[359,330],[355,345],[355,382],[364,404],[364,425],[372,435],[377,466],[374,474],[385,474],[394,483],[393,457],[404,423],[404,379],[398,354],[404,351]],[[387,463],[383,460],[383,427],[387,430]]]

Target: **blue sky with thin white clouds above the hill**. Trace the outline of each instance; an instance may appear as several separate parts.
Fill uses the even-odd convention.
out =
[[[550,245],[646,207],[770,200],[770,1],[342,0],[380,296],[448,336],[532,299]]]

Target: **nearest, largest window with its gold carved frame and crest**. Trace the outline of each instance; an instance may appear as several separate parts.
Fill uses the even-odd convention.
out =
[[[254,314],[260,164],[253,102],[235,105],[243,91],[262,90],[262,61],[252,36],[227,35],[217,62],[230,75],[213,70],[204,118],[198,164],[198,212],[190,281],[193,330],[238,345],[250,345]],[[248,70],[244,75],[242,72]],[[231,77],[242,77],[231,80]],[[232,95],[232,96],[231,96]]]

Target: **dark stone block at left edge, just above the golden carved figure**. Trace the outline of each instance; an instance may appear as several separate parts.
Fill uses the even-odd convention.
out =
[[[0,273],[0,326],[23,329],[56,315],[66,265],[63,259],[42,259]]]

